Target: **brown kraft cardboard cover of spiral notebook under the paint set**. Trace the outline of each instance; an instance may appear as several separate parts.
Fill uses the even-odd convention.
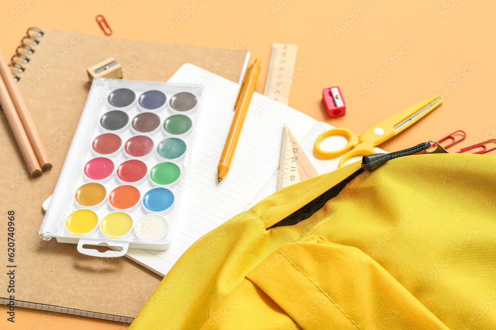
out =
[[[52,170],[31,179],[8,123],[0,112],[0,179],[3,237],[7,251],[7,211],[15,211],[15,293],[2,290],[0,303],[9,294],[19,306],[130,322],[161,278],[121,257],[95,258],[77,252],[75,244],[44,241],[38,235],[43,220],[42,203],[57,183],[62,164],[84,106],[90,83],[86,68],[115,57],[125,79],[167,81],[184,63],[192,63],[238,82],[247,51],[225,55],[226,49],[160,44],[94,37],[42,29],[44,35],[18,63],[25,70],[18,87],[52,160]],[[19,50],[21,48],[18,48]],[[6,256],[4,263],[6,263]],[[12,268],[11,268],[12,269]],[[7,287],[7,276],[0,287]],[[79,310],[79,311],[78,311]],[[81,312],[85,311],[85,312]],[[116,318],[112,316],[118,316]]]

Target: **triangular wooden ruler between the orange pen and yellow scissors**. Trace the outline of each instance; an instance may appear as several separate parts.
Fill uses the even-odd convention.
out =
[[[277,190],[291,186],[318,175],[309,158],[295,137],[284,124],[281,158],[277,175]]]

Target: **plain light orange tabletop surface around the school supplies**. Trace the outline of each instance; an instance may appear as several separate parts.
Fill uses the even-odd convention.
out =
[[[236,48],[243,41],[252,60],[262,60],[256,90],[263,93],[272,43],[297,44],[300,70],[290,106],[315,119],[361,133],[407,106],[444,94],[440,108],[381,147],[395,151],[459,129],[466,131],[467,139],[451,151],[496,139],[494,1],[171,2],[2,0],[0,48],[5,56],[12,54],[30,26],[103,35],[95,22],[95,15],[103,14],[112,37],[222,48]],[[181,14],[186,18],[178,18]],[[321,90],[336,85],[344,94],[347,115],[329,119]],[[12,325],[5,322],[5,311],[0,307],[2,328],[126,328],[21,308]]]

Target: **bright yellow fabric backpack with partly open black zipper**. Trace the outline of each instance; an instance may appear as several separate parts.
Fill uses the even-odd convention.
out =
[[[129,329],[496,329],[496,157],[400,157],[270,228],[359,163],[201,237]]]

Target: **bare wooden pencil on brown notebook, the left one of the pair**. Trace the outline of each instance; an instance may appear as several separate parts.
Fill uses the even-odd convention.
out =
[[[21,120],[15,111],[14,103],[10,99],[10,94],[8,94],[7,88],[3,81],[3,77],[0,77],[0,104],[7,118],[10,129],[14,135],[15,141],[21,150],[22,157],[26,162],[29,174],[32,177],[39,177],[42,174],[42,170],[36,155],[33,151],[31,143],[29,142],[28,136],[24,131]]]

